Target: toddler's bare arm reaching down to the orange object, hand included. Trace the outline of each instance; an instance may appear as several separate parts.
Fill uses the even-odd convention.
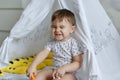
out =
[[[35,59],[33,60],[33,62],[31,63],[31,65],[28,67],[27,69],[27,76],[29,78],[31,78],[32,73],[36,74],[36,67],[39,63],[41,63],[49,54],[49,50],[47,49],[43,49],[41,52],[39,52]]]

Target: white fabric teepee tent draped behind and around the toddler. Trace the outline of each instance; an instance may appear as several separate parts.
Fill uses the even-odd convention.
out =
[[[74,12],[74,36],[87,50],[78,80],[119,80],[120,36],[98,0],[32,0],[0,48],[0,68],[39,52],[51,39],[50,18],[60,8]]]

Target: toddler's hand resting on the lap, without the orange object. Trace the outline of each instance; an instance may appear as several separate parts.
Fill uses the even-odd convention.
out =
[[[53,71],[53,79],[61,79],[64,74],[65,74],[64,68],[60,67],[58,69],[55,69]]]

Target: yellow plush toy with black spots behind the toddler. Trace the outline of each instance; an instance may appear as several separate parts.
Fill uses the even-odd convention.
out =
[[[8,73],[13,73],[13,74],[25,74],[26,69],[31,64],[34,57],[35,56],[14,59],[9,62],[10,64],[7,67],[2,68],[1,73],[8,72]],[[45,68],[46,66],[52,66],[52,64],[53,64],[52,53],[50,52],[49,55],[47,56],[47,58],[42,63],[40,63],[36,67],[36,69],[41,70],[41,69]]]

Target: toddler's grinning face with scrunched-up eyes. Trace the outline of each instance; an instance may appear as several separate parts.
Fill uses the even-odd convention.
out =
[[[55,20],[52,22],[52,36],[58,41],[65,41],[70,38],[70,34],[74,31],[75,26],[72,26],[67,19],[62,21]]]

